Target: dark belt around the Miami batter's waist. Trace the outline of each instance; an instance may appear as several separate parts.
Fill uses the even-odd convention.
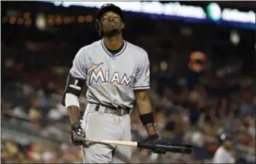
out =
[[[115,108],[115,107],[109,107],[109,106],[105,106],[105,105],[96,104],[96,111],[99,111],[100,106],[105,107],[104,108],[105,113],[113,114],[113,115],[117,115],[117,116],[123,116],[126,114],[130,114],[130,112],[132,110],[131,108]]]

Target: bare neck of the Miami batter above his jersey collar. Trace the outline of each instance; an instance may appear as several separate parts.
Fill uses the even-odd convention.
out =
[[[103,39],[105,47],[111,50],[116,50],[122,47],[123,45],[123,36],[117,35],[111,38],[104,38]]]

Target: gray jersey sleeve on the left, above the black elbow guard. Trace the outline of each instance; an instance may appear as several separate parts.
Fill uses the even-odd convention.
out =
[[[70,74],[78,79],[87,79],[87,60],[84,48],[80,48],[78,50],[78,53],[73,60],[73,65],[70,69]]]

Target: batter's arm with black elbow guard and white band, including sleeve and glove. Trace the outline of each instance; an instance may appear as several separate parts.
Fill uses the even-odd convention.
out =
[[[77,145],[83,144],[83,142],[79,142],[80,138],[86,136],[80,124],[80,106],[78,100],[86,79],[87,62],[84,49],[81,48],[73,60],[73,65],[70,69],[62,97],[62,105],[67,108],[71,123],[71,139],[72,142]]]

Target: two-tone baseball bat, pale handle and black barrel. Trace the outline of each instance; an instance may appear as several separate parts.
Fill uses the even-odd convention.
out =
[[[153,142],[127,142],[127,141],[115,141],[115,140],[91,140],[84,139],[86,142],[104,143],[104,144],[115,144],[123,146],[131,146],[143,149],[164,149],[169,152],[191,154],[193,147],[187,144],[155,144]]]

